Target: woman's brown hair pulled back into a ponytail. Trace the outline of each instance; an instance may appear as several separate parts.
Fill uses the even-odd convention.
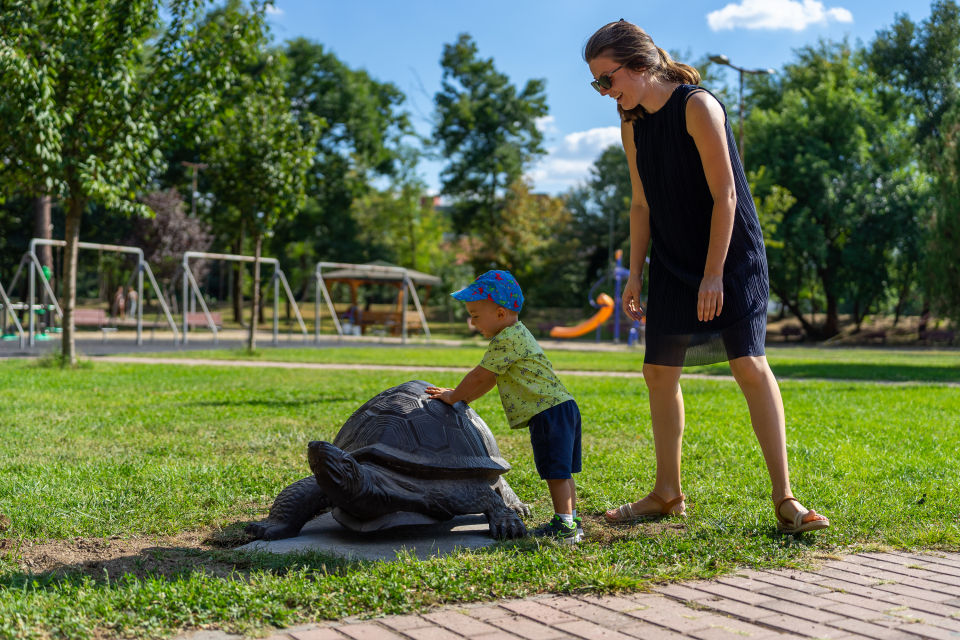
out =
[[[700,84],[699,71],[671,58],[669,53],[653,44],[653,39],[646,31],[622,18],[597,29],[583,46],[583,59],[587,64],[600,56],[607,56],[632,71],[649,71],[666,82]],[[646,114],[641,105],[629,111],[617,105],[617,111],[625,122]]]

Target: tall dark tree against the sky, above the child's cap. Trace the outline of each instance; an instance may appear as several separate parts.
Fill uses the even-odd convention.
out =
[[[493,222],[503,192],[544,153],[536,126],[547,115],[544,81],[529,80],[518,91],[492,58],[477,54],[465,33],[444,46],[435,97],[434,142],[447,162],[442,190],[455,199],[454,226],[461,233]]]

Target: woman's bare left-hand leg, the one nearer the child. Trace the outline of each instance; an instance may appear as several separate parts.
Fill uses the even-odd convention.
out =
[[[680,367],[644,364],[643,380],[650,395],[650,418],[653,423],[653,444],[657,452],[657,479],[653,493],[665,502],[677,498],[680,490],[680,449],[683,444],[683,394],[680,391]],[[661,505],[649,496],[633,503],[635,513],[659,511]],[[671,513],[684,510],[681,502]],[[611,518],[616,509],[607,512]]]

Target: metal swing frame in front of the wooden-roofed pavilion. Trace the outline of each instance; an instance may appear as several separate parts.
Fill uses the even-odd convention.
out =
[[[327,273],[326,276],[324,276],[324,269],[338,269],[338,271]],[[427,340],[430,340],[430,326],[427,324],[427,318],[423,313],[423,307],[420,305],[420,298],[417,295],[415,281],[419,281],[421,284],[426,284],[429,292],[430,286],[440,283],[439,278],[425,273],[420,273],[419,271],[414,271],[412,269],[405,269],[404,267],[397,267],[393,265],[318,262],[316,269],[316,295],[314,296],[314,304],[316,305],[316,320],[314,322],[315,343],[319,344],[320,342],[321,295],[327,301],[327,308],[330,310],[330,315],[333,318],[333,325],[337,329],[337,336],[342,339],[344,335],[343,326],[340,324],[340,319],[337,315],[337,310],[334,307],[333,299],[330,297],[327,281],[346,282],[349,284],[351,300],[354,307],[357,306],[357,286],[359,284],[377,283],[389,284],[397,287],[397,310],[395,312],[391,312],[389,315],[395,316],[396,318],[395,320],[390,318],[390,321],[399,321],[400,335],[403,344],[407,344],[408,337],[407,292],[409,292],[409,297],[413,299],[414,306],[416,307],[417,318],[420,321],[420,326],[423,328],[423,333]],[[386,324],[386,322],[384,324]]]

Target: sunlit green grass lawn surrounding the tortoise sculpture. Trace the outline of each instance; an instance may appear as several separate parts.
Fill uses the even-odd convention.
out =
[[[471,355],[472,362],[479,350],[444,353]],[[598,354],[571,356],[583,360],[560,366],[585,368]],[[106,363],[61,371],[0,363],[0,512],[12,523],[0,542],[175,535],[259,519],[277,491],[308,473],[309,440],[331,439],[363,401],[415,377],[458,380],[441,373]],[[172,573],[90,577],[81,568],[65,576],[24,573],[16,545],[5,544],[0,637],[162,636],[199,625],[250,631],[546,591],[638,590],[863,547],[960,548],[954,388],[785,382],[794,490],[833,523],[791,542],[775,532],[766,472],[735,384],[684,383],[689,518],[610,528],[602,511],[652,485],[646,390],[636,379],[566,382],[584,416],[578,483],[588,540],[577,548],[521,541],[391,563],[211,548],[192,552]],[[495,393],[475,407],[514,465],[511,485],[534,511],[528,524],[539,524],[549,498],[526,432],[507,428]],[[213,565],[236,573],[209,571]]]

